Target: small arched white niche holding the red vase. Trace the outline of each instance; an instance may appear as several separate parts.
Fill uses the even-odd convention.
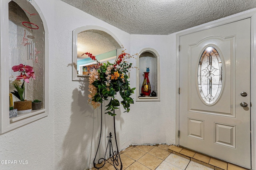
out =
[[[136,101],[160,101],[160,57],[156,50],[145,48],[138,53],[136,59]],[[149,67],[148,78],[151,86],[151,93],[156,92],[156,96],[141,96],[144,72]]]

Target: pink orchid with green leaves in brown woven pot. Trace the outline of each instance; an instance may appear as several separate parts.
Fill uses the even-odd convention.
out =
[[[14,72],[20,72],[20,75],[16,76],[16,80],[22,80],[23,83],[21,86],[19,84],[14,83],[14,92],[11,92],[14,96],[16,96],[20,101],[14,102],[14,109],[18,110],[18,114],[24,114],[24,113],[29,113],[32,110],[32,101],[31,100],[25,100],[25,86],[24,82],[29,83],[29,79],[35,78],[34,70],[32,66],[29,65],[24,65],[24,64],[19,64],[16,66],[12,67],[12,70]]]

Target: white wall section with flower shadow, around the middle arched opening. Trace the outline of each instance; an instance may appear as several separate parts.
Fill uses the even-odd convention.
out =
[[[55,169],[86,169],[93,166],[100,133],[100,112],[87,104],[88,82],[72,81],[72,31],[86,25],[104,27],[127,49],[130,49],[130,35],[60,0],[55,1],[55,11],[56,53],[52,68],[55,74],[52,86],[55,87],[56,106]],[[109,133],[113,121],[109,115],[106,118],[103,123]],[[118,113],[116,116],[119,149],[130,145],[131,120],[131,115],[127,113]],[[102,140],[106,141],[106,138]]]

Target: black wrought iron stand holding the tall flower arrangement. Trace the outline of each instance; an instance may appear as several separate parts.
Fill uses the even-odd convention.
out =
[[[105,155],[103,158],[100,158],[98,160],[98,164],[95,163],[95,160],[96,160],[96,156],[97,156],[97,153],[98,153],[98,150],[99,150],[99,147],[100,147],[100,139],[101,139],[101,133],[102,133],[102,104],[101,104],[101,123],[100,123],[100,139],[99,139],[99,144],[98,144],[98,148],[97,148],[97,151],[96,151],[96,154],[95,154],[95,157],[94,157],[94,160],[93,160],[93,166],[94,168],[96,169],[100,169],[102,168],[103,166],[105,166],[105,164],[107,162],[113,162],[113,166],[116,170],[122,170],[123,168],[123,165],[122,165],[122,161],[121,161],[121,158],[120,158],[120,154],[119,154],[119,151],[118,151],[118,146],[117,146],[117,141],[116,141],[116,125],[115,125],[115,116],[113,116],[113,119],[114,119],[114,137],[115,137],[115,143],[116,143],[116,150],[113,150],[113,145],[112,145],[112,133],[110,132],[109,133],[109,136],[107,137],[108,139],[108,145],[107,145],[107,148],[106,148],[106,152],[105,152]],[[108,154],[109,154],[109,157],[108,157]],[[120,162],[120,163],[119,163]],[[98,165],[98,166],[97,166]],[[120,166],[120,169],[118,169],[118,166]]]

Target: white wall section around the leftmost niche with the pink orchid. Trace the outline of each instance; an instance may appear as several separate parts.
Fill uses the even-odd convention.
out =
[[[8,3],[10,0],[1,0]],[[47,21],[50,54],[54,56],[54,3],[52,0],[33,0],[40,6]],[[1,8],[1,12],[2,12]],[[38,11],[40,13],[40,11]],[[8,23],[7,23],[8,25]],[[8,40],[6,40],[8,41]],[[4,49],[6,50],[6,49]],[[52,61],[50,62],[52,66]],[[51,68],[54,68],[53,66]],[[52,69],[51,69],[52,70]],[[50,74],[50,82],[54,80]],[[50,86],[49,97],[54,98],[54,86]],[[50,102],[49,115],[43,119],[24,125],[0,135],[0,161],[23,160],[24,164],[2,164],[1,170],[52,170],[54,169],[54,103]],[[27,162],[25,162],[27,161]],[[27,163],[27,164],[26,164]]]

